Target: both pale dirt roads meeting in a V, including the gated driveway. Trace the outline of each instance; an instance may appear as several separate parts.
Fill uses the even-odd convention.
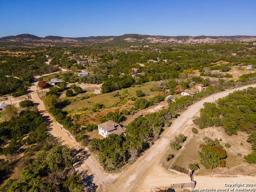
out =
[[[50,128],[52,128],[52,130],[50,130],[51,134],[60,138],[60,140],[63,141],[63,144],[66,144],[70,148],[76,148],[76,145],[74,144],[75,142],[73,142],[50,118],[50,114],[46,111],[43,102],[36,93],[36,86],[37,82],[34,82],[31,86],[32,92],[30,94],[32,100],[35,103],[38,103],[38,109],[42,111],[42,116],[49,122]],[[149,192],[155,187],[190,182],[188,176],[176,175],[174,177],[173,174],[169,174],[159,165],[160,160],[163,158],[166,150],[168,150],[170,140],[182,131],[184,124],[188,120],[191,120],[200,108],[203,107],[204,102],[212,102],[213,98],[214,100],[217,100],[218,98],[223,98],[229,93],[234,92],[234,90],[241,90],[248,87],[256,87],[256,84],[221,92],[215,94],[214,97],[209,96],[190,106],[180,117],[172,122],[172,126],[164,131],[161,138],[122,175],[109,174],[107,176],[90,157],[88,157],[79,168],[76,168],[76,170],[81,174],[84,171],[88,171],[89,174],[93,175],[92,182],[96,184],[97,192]],[[224,188],[224,183],[255,183],[256,177],[238,176],[236,178],[221,178],[196,176],[195,180],[198,181],[196,188],[216,188],[217,186]]]

